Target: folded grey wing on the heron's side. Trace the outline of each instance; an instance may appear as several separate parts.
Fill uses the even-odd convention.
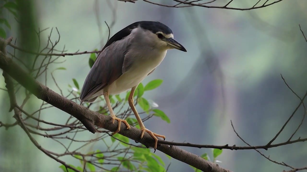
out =
[[[112,84],[124,72],[122,71],[125,55],[129,52],[129,36],[115,41],[98,55],[88,73],[80,94],[81,103],[93,94]]]

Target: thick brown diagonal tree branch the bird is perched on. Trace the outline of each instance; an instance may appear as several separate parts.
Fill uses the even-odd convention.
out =
[[[3,41],[3,39],[0,41]],[[69,99],[66,99],[65,97],[57,94],[56,92],[53,92],[45,85],[39,83],[33,77],[29,76],[25,72],[25,70],[21,69],[10,58],[6,57],[6,55],[2,51],[0,52],[0,68],[8,75],[10,75],[14,80],[20,83],[23,87],[25,87],[27,90],[33,93],[33,95],[35,95],[37,98],[77,118],[90,132],[95,133],[97,131],[95,126],[102,127],[112,132],[117,129],[118,123],[116,120],[115,124],[112,125],[111,123],[112,118],[110,116],[101,115],[97,112],[89,110],[84,106],[80,106],[79,104]],[[145,133],[143,139],[139,140],[141,133],[142,133],[141,130],[133,126],[131,126],[129,130],[126,130],[125,124],[121,125],[121,130],[119,132],[119,134],[126,136],[132,140],[138,141],[146,146],[153,147],[154,140],[148,133]],[[217,164],[206,161],[205,159],[199,157],[198,155],[182,150],[176,146],[162,144],[158,145],[157,149],[173,157],[174,159],[180,160],[202,171],[206,172],[230,171],[220,167]]]

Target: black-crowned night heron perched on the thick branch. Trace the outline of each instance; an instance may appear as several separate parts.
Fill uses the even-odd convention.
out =
[[[126,124],[127,129],[130,129],[130,125],[126,120],[115,116],[109,95],[116,95],[131,88],[128,102],[142,130],[140,139],[144,132],[149,133],[155,139],[156,150],[157,137],[165,140],[165,136],[145,128],[134,106],[133,95],[138,84],[162,62],[166,51],[174,48],[186,52],[174,39],[172,30],[160,22],[138,21],[123,28],[109,39],[98,55],[84,81],[80,94],[81,103],[91,103],[103,95],[113,124],[114,120],[118,121],[118,129],[113,135],[120,131],[121,122]]]

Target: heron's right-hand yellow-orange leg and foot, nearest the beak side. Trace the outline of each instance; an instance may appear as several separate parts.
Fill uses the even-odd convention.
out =
[[[138,111],[136,110],[135,106],[134,106],[134,103],[133,103],[133,96],[134,96],[134,92],[135,92],[135,89],[137,88],[137,86],[134,86],[133,88],[131,88],[131,92],[130,92],[130,95],[129,95],[129,98],[128,98],[128,103],[129,103],[129,106],[131,107],[136,119],[138,120],[138,124],[140,125],[140,128],[142,130],[142,134],[141,134],[141,138],[143,138],[144,136],[144,133],[147,132],[149,133],[155,140],[155,144],[154,144],[154,150],[156,151],[157,149],[157,144],[158,144],[158,139],[157,137],[162,137],[164,140],[165,140],[165,136],[162,136],[162,135],[159,135],[159,134],[156,134],[156,133],[153,133],[151,132],[150,130],[146,129],[143,122],[142,122],[142,119],[140,118],[140,116],[138,115]],[[157,136],[157,137],[156,137]]]

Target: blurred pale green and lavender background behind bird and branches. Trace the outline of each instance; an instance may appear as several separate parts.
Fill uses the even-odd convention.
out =
[[[159,1],[156,1],[159,2]],[[171,1],[160,1],[170,4]],[[222,2],[226,4],[225,2]],[[233,7],[253,6],[255,2],[235,0]],[[208,9],[202,7],[167,8],[143,1],[135,4],[119,1],[34,1],[33,12],[37,28],[57,27],[60,32],[59,47],[68,52],[101,49],[107,40],[106,21],[111,36],[135,21],[160,21],[168,25],[177,41],[187,52],[169,50],[165,60],[142,83],[163,79],[163,84],[146,92],[144,97],[159,105],[171,123],[153,117],[144,124],[168,141],[195,144],[224,145],[245,144],[236,131],[251,145],[265,145],[279,131],[300,100],[287,88],[281,75],[300,96],[306,92],[307,43],[298,24],[307,35],[307,2],[282,1],[272,6],[249,10]],[[219,5],[217,3],[217,5]],[[9,15],[9,14],[8,14]],[[97,17],[98,16],[98,17]],[[9,17],[17,26],[13,16]],[[15,22],[15,23],[14,23]],[[18,39],[17,28],[8,36]],[[47,40],[47,32],[44,35]],[[57,39],[54,34],[52,39]],[[8,47],[10,49],[10,47]],[[66,62],[51,68],[65,67],[67,71],[55,73],[61,88],[67,93],[72,78],[83,85],[89,71],[89,54],[66,56]],[[5,87],[0,77],[1,88]],[[47,86],[58,92],[49,80]],[[64,93],[65,93],[64,92]],[[7,114],[7,93],[0,90],[0,121],[14,122]],[[123,93],[125,95],[126,93]],[[37,107],[37,99],[32,106]],[[42,114],[45,120],[61,121],[68,114],[51,109]],[[288,140],[301,122],[300,108],[274,143]],[[306,122],[294,136],[307,136]],[[83,132],[83,137],[95,137]],[[20,127],[0,128],[0,162],[9,171],[61,171],[60,163],[39,151]],[[39,144],[53,150],[60,145],[39,138]],[[98,142],[91,149],[103,148]],[[183,147],[201,155],[211,149]],[[307,166],[306,143],[290,144],[262,151],[278,162],[294,167]],[[171,162],[169,171],[192,171],[187,164],[167,159],[157,151],[165,163]],[[66,159],[69,163],[69,157]],[[282,171],[288,168],[272,163],[254,150],[223,150],[219,163],[236,172]],[[1,168],[0,168],[1,169]]]

